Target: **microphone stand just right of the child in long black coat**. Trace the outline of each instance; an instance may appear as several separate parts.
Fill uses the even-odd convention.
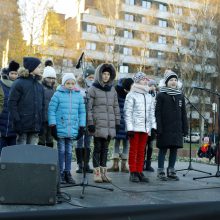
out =
[[[192,107],[199,113],[199,115],[206,121],[206,119],[204,118],[203,115],[200,114],[200,112],[198,111],[198,109],[190,102],[190,100],[184,96],[185,99],[188,101],[188,103],[190,104],[190,114],[189,114],[189,166],[186,169],[181,169],[181,170],[176,170],[176,171],[184,171],[187,170],[187,172],[185,174],[183,174],[183,176],[186,176],[186,174],[189,171],[197,171],[197,172],[201,172],[201,173],[206,173],[211,175],[211,173],[205,172],[205,171],[201,171],[201,170],[197,170],[194,169],[192,167],[192,136],[191,136],[191,132],[192,132]]]

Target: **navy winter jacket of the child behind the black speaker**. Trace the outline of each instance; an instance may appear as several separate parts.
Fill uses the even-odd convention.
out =
[[[17,133],[39,133],[44,118],[43,86],[32,75],[19,77],[11,87],[8,107]]]

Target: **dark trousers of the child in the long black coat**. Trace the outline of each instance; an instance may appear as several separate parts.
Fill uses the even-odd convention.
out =
[[[159,169],[164,168],[164,161],[165,161],[166,153],[167,153],[167,148],[159,149],[159,154],[158,154],[158,168]],[[170,148],[168,168],[174,168],[175,163],[176,163],[176,156],[177,156],[177,148]]]

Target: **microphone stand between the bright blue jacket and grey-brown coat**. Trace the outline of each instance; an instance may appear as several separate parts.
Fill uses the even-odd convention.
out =
[[[83,54],[81,55],[81,59],[79,59],[80,66],[77,66],[77,69],[79,69],[81,67],[81,65],[82,65],[82,70],[84,70]],[[85,81],[84,74],[83,74],[83,79]],[[84,138],[87,138],[89,136],[89,132],[88,132],[88,103],[89,103],[88,100],[89,100],[89,98],[88,98],[88,85],[86,84],[86,82],[85,82],[85,87],[86,87],[86,91],[85,91],[84,100],[85,100],[85,109],[86,109],[86,127],[85,127]],[[82,177],[81,183],[65,186],[65,188],[73,187],[73,186],[74,187],[75,186],[82,186],[82,191],[81,191],[81,195],[80,195],[81,199],[84,199],[84,197],[85,197],[85,188],[87,186],[94,187],[94,188],[99,188],[99,189],[106,189],[106,190],[109,190],[109,191],[114,191],[113,188],[104,187],[104,186],[97,186],[97,185],[92,185],[92,184],[88,183],[88,179],[87,179],[87,176],[86,176],[86,161],[87,161],[87,148],[88,147],[89,146],[85,146],[85,141],[83,141],[83,163],[82,163],[82,166],[83,166],[83,177]],[[62,187],[62,188],[64,188],[64,187]]]

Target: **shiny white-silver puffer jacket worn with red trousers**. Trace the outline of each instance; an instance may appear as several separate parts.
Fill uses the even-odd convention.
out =
[[[133,84],[125,99],[124,118],[127,131],[147,132],[156,129],[155,99],[146,86]]]

